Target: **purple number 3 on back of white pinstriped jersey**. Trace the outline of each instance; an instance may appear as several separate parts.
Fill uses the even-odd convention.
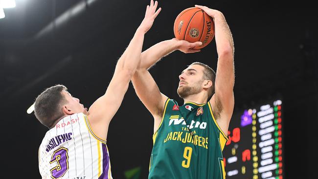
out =
[[[53,179],[63,177],[64,174],[68,171],[68,149],[64,147],[57,149],[52,155],[50,164],[54,162],[57,165],[50,170],[51,177]]]

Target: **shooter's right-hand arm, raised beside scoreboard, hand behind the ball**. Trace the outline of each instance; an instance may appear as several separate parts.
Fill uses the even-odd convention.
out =
[[[204,10],[214,20],[215,43],[218,63],[215,78],[215,94],[210,103],[220,128],[227,134],[229,121],[234,108],[234,43],[224,15],[206,6],[196,7]]]

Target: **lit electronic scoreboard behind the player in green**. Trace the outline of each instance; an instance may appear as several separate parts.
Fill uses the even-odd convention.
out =
[[[227,179],[283,179],[282,101],[232,115],[223,151]]]

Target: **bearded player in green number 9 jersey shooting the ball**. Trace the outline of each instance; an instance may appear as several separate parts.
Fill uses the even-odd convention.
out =
[[[175,100],[160,93],[148,72],[165,55],[180,50],[193,53],[201,42],[176,39],[160,42],[141,54],[141,63],[132,78],[136,94],[154,117],[153,150],[149,179],[225,179],[222,151],[234,108],[234,45],[224,15],[201,8],[215,23],[218,53],[216,73],[196,62],[180,74]]]

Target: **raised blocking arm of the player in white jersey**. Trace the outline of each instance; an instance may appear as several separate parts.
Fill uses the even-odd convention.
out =
[[[105,94],[91,105],[89,110],[91,127],[97,136],[102,137],[101,139],[107,138],[109,123],[120,107],[129,82],[140,63],[144,34],[151,28],[161,10],[159,8],[156,11],[157,5],[157,1],[154,3],[151,0],[150,5],[147,6],[145,18],[116,64],[114,76]]]

